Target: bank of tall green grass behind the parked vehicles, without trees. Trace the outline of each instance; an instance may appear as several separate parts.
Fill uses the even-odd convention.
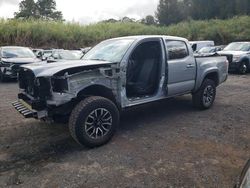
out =
[[[181,36],[189,40],[214,40],[217,44],[250,40],[250,16],[234,17],[229,20],[190,20],[168,27],[119,22],[82,26],[37,20],[0,20],[0,25],[0,46],[70,49],[91,46],[113,37],[149,34]]]

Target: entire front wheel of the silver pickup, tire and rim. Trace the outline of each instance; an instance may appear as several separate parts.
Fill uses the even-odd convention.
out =
[[[88,97],[72,111],[69,129],[72,137],[81,145],[98,147],[106,144],[119,124],[116,105],[103,97]]]

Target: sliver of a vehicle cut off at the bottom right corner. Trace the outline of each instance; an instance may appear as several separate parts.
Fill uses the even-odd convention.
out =
[[[249,188],[250,187],[250,160],[247,162],[244,167],[239,182],[235,188]]]

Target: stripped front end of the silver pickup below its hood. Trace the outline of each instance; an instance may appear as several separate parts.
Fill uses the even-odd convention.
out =
[[[118,91],[117,64],[67,68],[51,76],[39,77],[31,69],[19,72],[18,101],[15,109],[25,118],[53,119],[56,115],[69,115],[79,102],[79,93],[94,85]]]

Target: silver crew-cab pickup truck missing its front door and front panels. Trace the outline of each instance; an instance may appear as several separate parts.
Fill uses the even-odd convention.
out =
[[[125,108],[192,94],[208,109],[227,76],[226,57],[194,57],[184,38],[115,38],[80,61],[23,66],[13,106],[26,118],[69,117],[72,137],[96,147],[112,138]]]

